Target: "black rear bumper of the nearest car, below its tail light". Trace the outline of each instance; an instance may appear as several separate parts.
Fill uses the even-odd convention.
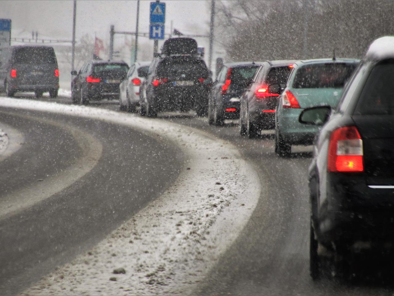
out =
[[[372,188],[364,174],[327,174],[320,232],[329,242],[394,239],[394,189]]]

